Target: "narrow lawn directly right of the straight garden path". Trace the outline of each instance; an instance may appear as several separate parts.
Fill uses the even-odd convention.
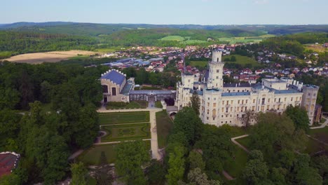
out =
[[[168,142],[168,135],[172,128],[172,120],[166,113],[166,111],[156,112],[156,125],[157,125],[157,137],[158,147],[163,148]]]

